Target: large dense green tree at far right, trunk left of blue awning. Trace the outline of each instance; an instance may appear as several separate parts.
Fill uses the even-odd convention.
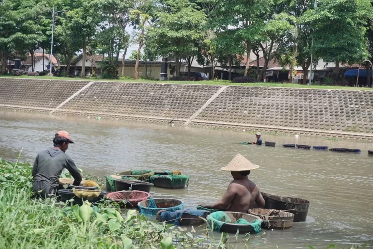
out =
[[[325,62],[362,63],[369,58],[367,23],[373,17],[370,0],[321,0],[317,9],[308,9],[301,20],[312,27],[312,50]]]

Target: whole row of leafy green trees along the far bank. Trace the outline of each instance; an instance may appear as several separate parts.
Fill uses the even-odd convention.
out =
[[[111,79],[125,74],[127,48],[138,44],[134,79],[139,61],[170,57],[176,77],[182,62],[190,72],[197,61],[229,69],[246,62],[244,76],[263,81],[275,59],[293,70],[299,66],[307,75],[310,66],[322,59],[335,63],[331,84],[340,84],[339,65],[364,64],[372,59],[373,6],[370,0],[2,0],[0,1],[1,72],[6,61],[31,55],[37,48],[49,53],[51,11],[54,18],[54,53],[70,69],[76,53],[106,56],[101,69]],[[128,29],[133,30],[128,33]],[[330,28],[333,27],[333,28]],[[250,72],[250,55],[256,69]],[[122,58],[119,58],[122,54]],[[311,54],[313,65],[311,65]],[[259,58],[261,67],[259,67]],[[120,66],[121,61],[121,66]],[[44,62],[43,62],[44,64]],[[253,62],[251,63],[251,65]],[[263,66],[262,66],[263,64]],[[368,64],[367,64],[368,65]],[[121,69],[119,69],[121,67]],[[132,70],[132,69],[127,69]],[[85,64],[82,78],[85,77]],[[237,76],[237,75],[236,75]],[[242,76],[242,75],[239,75]],[[303,77],[303,84],[307,77]]]

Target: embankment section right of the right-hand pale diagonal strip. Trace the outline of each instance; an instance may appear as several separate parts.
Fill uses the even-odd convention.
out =
[[[373,91],[228,87],[198,121],[373,133]]]

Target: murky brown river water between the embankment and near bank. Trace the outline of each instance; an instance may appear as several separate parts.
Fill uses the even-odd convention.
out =
[[[251,237],[252,248],[304,248],[310,244],[373,245],[373,143],[263,135],[263,141],[360,148],[361,154],[233,144],[255,136],[230,130],[134,124],[0,113],[0,157],[33,162],[66,129],[76,142],[68,152],[84,172],[103,176],[125,169],[182,170],[190,176],[182,190],[153,188],[155,197],[183,200],[187,207],[217,201],[231,181],[220,171],[237,153],[261,167],[250,175],[262,191],[311,202],[307,222],[292,229]],[[231,240],[232,241],[232,240]]]

